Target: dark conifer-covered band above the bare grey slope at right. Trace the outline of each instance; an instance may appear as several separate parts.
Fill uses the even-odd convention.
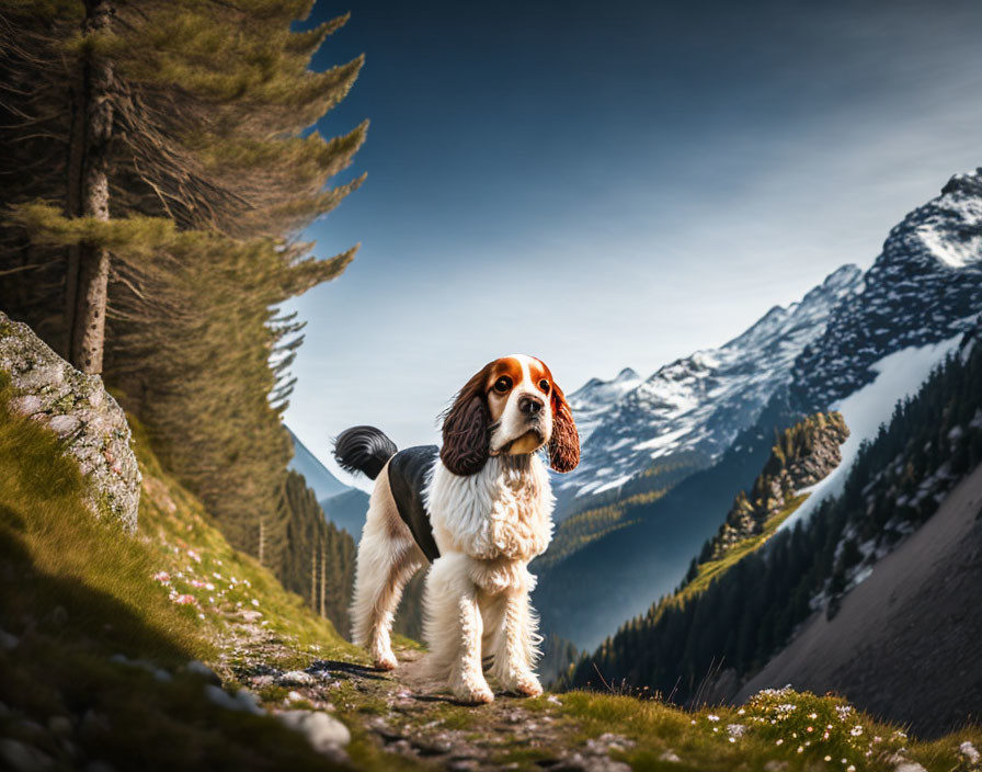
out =
[[[760,669],[815,610],[834,614],[863,566],[928,519],[982,463],[982,332],[967,338],[861,445],[841,495],[705,590],[661,599],[582,657],[561,684],[603,688],[602,676],[685,702],[720,671],[742,679]]]

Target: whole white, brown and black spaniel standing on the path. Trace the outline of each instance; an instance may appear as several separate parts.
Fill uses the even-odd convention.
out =
[[[528,563],[552,537],[546,465],[580,463],[570,406],[549,368],[514,354],[489,362],[442,413],[443,445],[398,451],[374,427],[338,435],[334,456],[375,479],[351,606],[353,638],[376,667],[397,667],[390,631],[406,582],[432,563],[423,595],[429,676],[470,704],[494,694],[482,660],[509,692],[541,694],[541,652]]]

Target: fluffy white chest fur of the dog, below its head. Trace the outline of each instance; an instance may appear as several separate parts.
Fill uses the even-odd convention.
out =
[[[492,456],[476,475],[439,461],[423,491],[441,555],[527,563],[549,546],[555,498],[538,455]]]

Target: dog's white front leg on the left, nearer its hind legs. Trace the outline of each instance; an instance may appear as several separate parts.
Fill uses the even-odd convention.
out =
[[[483,624],[478,588],[464,555],[444,555],[426,578],[425,634],[434,674],[446,673],[450,691],[469,703],[489,703],[494,694],[481,670]]]

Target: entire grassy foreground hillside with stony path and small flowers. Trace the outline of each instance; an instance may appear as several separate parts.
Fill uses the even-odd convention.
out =
[[[84,509],[85,480],[53,434],[0,412],[4,767],[541,769],[616,760],[638,770],[886,771],[903,758],[967,772],[960,748],[982,748],[975,729],[914,743],[842,700],[789,691],[694,712],[595,692],[457,705],[438,684],[414,679],[411,642],[398,643],[395,676],[364,667],[330,623],[228,545],[135,429],[144,495],[139,535],[129,538]],[[214,673],[194,660],[238,696],[219,699]],[[352,733],[346,756],[315,753],[256,704],[335,715]]]

